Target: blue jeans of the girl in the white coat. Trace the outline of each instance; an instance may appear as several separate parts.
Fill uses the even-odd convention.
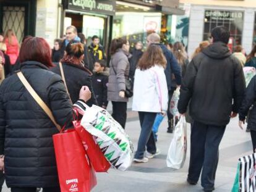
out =
[[[156,143],[153,135],[152,127],[156,119],[156,113],[154,112],[139,112],[140,127],[140,137],[138,141],[138,148],[135,153],[135,159],[143,159],[144,153],[146,151],[151,154],[156,153]]]

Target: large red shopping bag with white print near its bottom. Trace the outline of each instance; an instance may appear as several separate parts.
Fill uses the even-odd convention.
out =
[[[70,129],[53,135],[53,144],[61,191],[90,191],[97,183],[95,170],[77,131]]]

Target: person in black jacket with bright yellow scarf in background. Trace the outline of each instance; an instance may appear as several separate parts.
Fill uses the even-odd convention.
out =
[[[93,63],[99,61],[99,60],[105,60],[105,51],[103,46],[100,44],[100,38],[96,35],[92,37],[92,43],[90,46],[88,46],[89,52],[91,54]]]

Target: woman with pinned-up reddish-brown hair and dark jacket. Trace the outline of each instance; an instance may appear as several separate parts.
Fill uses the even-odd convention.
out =
[[[92,89],[92,72],[82,64],[83,57],[83,44],[75,40],[70,41],[66,46],[65,54],[61,59],[61,62],[51,69],[51,71],[62,76],[60,64],[62,65],[64,73],[62,80],[66,81],[67,91],[73,103],[79,99],[81,87],[88,86],[92,93],[92,97],[87,101],[87,104],[88,106],[92,106],[93,104],[96,104]]]

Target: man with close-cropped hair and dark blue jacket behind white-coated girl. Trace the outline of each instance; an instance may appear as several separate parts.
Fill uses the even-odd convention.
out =
[[[181,86],[181,66],[178,64],[176,58],[174,57],[173,53],[169,51],[164,44],[160,44],[160,36],[157,33],[151,33],[147,37],[147,44],[158,44],[160,48],[163,51],[163,54],[166,58],[167,65],[166,69],[164,70],[167,86],[168,86],[168,94],[169,94],[169,100],[168,100],[168,110],[167,110],[167,116],[168,116],[168,133],[173,133],[173,115],[170,112],[170,104],[171,104],[171,98],[173,97],[174,89],[172,88],[172,74],[174,74],[174,77],[176,79],[177,86]]]

